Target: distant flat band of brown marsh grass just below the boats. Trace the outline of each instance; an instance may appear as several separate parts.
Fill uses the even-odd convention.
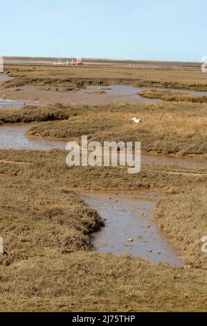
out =
[[[6,66],[5,72],[13,80],[3,87],[24,85],[53,85],[81,88],[85,85],[125,84],[136,87],[161,87],[174,89],[207,90],[205,74],[198,67],[117,67],[87,66],[77,67],[24,67]],[[52,77],[51,77],[52,76]]]

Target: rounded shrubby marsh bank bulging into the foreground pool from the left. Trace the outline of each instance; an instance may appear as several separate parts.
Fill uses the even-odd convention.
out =
[[[0,178],[0,183],[0,233],[6,250],[0,264],[91,248],[88,234],[102,221],[73,191],[26,179]]]

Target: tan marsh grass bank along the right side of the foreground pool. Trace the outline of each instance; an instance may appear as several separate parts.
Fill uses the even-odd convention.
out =
[[[161,228],[180,243],[188,255],[188,264],[205,266],[206,255],[201,254],[201,238],[207,233],[207,191],[201,185],[195,191],[163,198],[156,206],[154,216]]]

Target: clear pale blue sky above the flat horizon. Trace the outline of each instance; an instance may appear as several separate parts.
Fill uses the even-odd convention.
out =
[[[0,4],[0,55],[181,61],[207,55],[207,0]]]

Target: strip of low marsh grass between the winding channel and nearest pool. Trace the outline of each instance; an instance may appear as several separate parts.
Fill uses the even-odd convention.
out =
[[[170,194],[185,192],[207,181],[206,169],[179,166],[141,166],[132,175],[127,168],[102,166],[66,166],[65,151],[0,151],[0,175],[34,180],[48,180],[69,189],[163,189]],[[182,188],[180,187],[182,185]]]

